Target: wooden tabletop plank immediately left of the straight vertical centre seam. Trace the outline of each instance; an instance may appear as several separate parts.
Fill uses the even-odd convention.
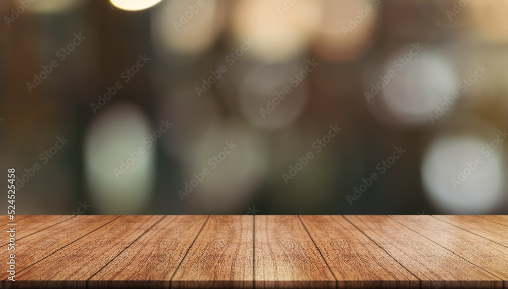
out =
[[[252,288],[253,216],[210,216],[172,288]]]

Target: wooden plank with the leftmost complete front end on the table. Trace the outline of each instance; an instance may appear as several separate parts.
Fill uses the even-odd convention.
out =
[[[120,216],[34,265],[16,272],[19,288],[85,288],[86,280],[145,233],[162,216]]]

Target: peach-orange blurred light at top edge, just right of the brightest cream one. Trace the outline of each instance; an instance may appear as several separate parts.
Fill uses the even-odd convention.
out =
[[[332,62],[360,57],[374,41],[379,5],[380,0],[327,0],[316,54]]]

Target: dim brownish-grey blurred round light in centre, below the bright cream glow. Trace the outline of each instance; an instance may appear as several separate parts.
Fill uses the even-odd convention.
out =
[[[312,73],[305,69],[305,64],[301,67],[296,63],[258,64],[245,74],[239,104],[250,124],[280,129],[302,114],[309,97],[306,78]]]

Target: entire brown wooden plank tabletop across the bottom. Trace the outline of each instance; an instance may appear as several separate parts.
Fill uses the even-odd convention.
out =
[[[7,216],[2,216],[7,220]],[[508,288],[508,216],[16,216],[6,287]],[[4,223],[4,224],[6,224]],[[7,280],[15,254],[15,281]]]

